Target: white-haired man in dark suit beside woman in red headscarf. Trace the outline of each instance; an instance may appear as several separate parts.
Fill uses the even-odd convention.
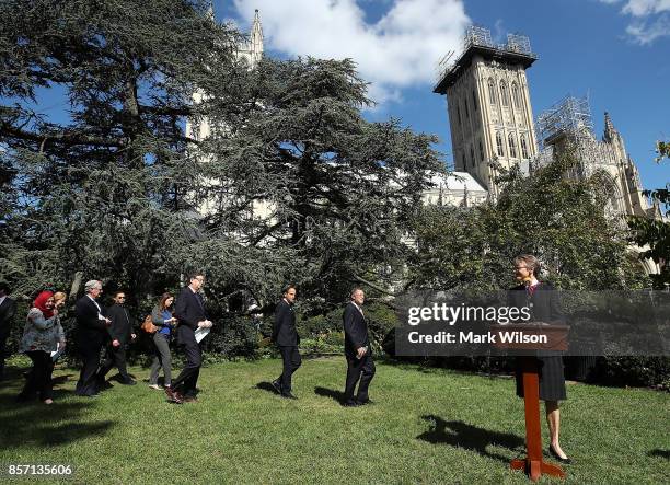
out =
[[[100,366],[100,350],[108,338],[107,327],[112,321],[104,316],[100,303],[95,301],[102,293],[102,284],[95,279],[86,281],[86,295],[77,300],[77,346],[83,359],[81,373],[74,393],[94,396],[97,394],[96,371]]]

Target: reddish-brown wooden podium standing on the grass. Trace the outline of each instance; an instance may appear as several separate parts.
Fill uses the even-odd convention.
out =
[[[490,325],[489,332],[496,336],[496,348],[515,350],[567,350],[567,325],[546,324],[512,324]],[[522,335],[539,339],[546,336],[546,342],[501,342],[500,334],[521,332]],[[518,334],[517,334],[518,335]],[[542,427],[540,426],[540,380],[538,376],[538,359],[534,356],[518,357],[521,359],[523,372],[523,405],[525,408],[525,459],[515,459],[510,465],[513,470],[523,470],[536,482],[543,474],[565,477],[565,472],[558,465],[544,462],[542,459]]]

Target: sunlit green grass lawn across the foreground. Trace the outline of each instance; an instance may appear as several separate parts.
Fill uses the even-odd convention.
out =
[[[138,385],[112,381],[97,399],[73,395],[78,372],[57,369],[56,404],[19,405],[14,371],[0,386],[0,463],[71,464],[69,483],[88,484],[528,483],[508,465],[524,454],[510,379],[378,363],[376,404],[344,408],[343,358],[304,359],[298,401],[267,390],[280,365],[204,368],[199,403],[181,406],[141,368]],[[568,397],[566,483],[667,483],[670,395],[571,384]]]

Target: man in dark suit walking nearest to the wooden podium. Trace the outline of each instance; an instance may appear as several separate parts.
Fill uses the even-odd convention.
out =
[[[345,357],[347,358],[347,382],[345,384],[345,406],[362,406],[370,404],[368,386],[374,377],[374,362],[368,323],[362,311],[366,295],[362,289],[351,291],[351,301],[345,308],[343,323],[345,330]],[[360,380],[360,383],[359,383]],[[358,384],[358,393],[354,391]]]

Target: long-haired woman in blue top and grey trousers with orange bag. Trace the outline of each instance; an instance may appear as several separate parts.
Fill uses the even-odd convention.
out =
[[[158,384],[158,374],[163,368],[165,377],[165,388],[172,385],[172,355],[170,354],[170,340],[174,327],[177,324],[177,319],[172,316],[172,303],[174,296],[172,293],[163,293],[161,301],[153,308],[151,312],[152,323],[159,327],[153,334],[153,344],[155,345],[155,356],[151,365],[151,376],[149,377],[149,388],[161,389]]]

